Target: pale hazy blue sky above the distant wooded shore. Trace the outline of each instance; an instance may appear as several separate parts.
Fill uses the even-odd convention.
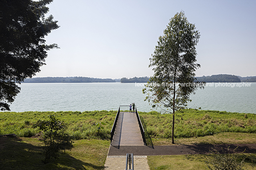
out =
[[[60,28],[34,77],[153,76],[149,58],[170,19],[181,10],[195,24],[196,76],[256,76],[256,0],[53,0],[47,15]]]

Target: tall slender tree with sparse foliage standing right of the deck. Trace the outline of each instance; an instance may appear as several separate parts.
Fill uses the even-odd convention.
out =
[[[175,112],[184,109],[190,100],[190,94],[202,88],[195,78],[195,71],[200,67],[196,62],[196,45],[200,33],[195,25],[189,23],[183,11],[170,19],[163,36],[152,54],[149,67],[153,67],[154,75],[143,89],[147,94],[145,100],[152,107],[160,107],[172,113],[172,143],[174,143]],[[171,111],[170,111],[171,109]]]

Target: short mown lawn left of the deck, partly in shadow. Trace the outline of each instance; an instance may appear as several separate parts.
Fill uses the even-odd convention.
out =
[[[56,161],[44,164],[42,142],[35,138],[0,137],[1,170],[102,170],[110,141],[78,140]]]

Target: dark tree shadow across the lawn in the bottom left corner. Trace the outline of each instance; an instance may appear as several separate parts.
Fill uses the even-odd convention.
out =
[[[44,164],[43,145],[41,142],[30,144],[18,137],[0,137],[0,169],[1,170],[85,170],[91,167],[101,170],[103,166],[75,159],[67,153],[60,155],[58,160]]]

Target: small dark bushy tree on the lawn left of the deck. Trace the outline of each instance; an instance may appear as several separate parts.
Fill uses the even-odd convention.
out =
[[[70,136],[65,133],[66,124],[56,119],[55,115],[49,115],[49,119],[45,121],[38,120],[33,125],[33,128],[38,127],[39,130],[43,131],[40,141],[45,144],[44,163],[57,159],[61,151],[71,150],[74,147]]]

